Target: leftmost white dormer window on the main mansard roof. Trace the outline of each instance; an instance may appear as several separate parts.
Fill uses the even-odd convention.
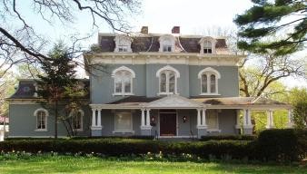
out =
[[[115,49],[114,52],[121,52],[121,53],[131,53],[131,43],[132,38],[127,35],[116,35],[114,38],[115,42]]]

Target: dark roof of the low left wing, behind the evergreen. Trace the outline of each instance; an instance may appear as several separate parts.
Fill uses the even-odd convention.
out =
[[[84,89],[89,89],[90,82],[88,79],[79,79],[80,82],[84,83]],[[84,98],[90,97],[90,93],[87,92],[87,95]],[[37,99],[35,96],[35,79],[21,79],[19,80],[18,87],[16,88],[15,93],[8,99]]]

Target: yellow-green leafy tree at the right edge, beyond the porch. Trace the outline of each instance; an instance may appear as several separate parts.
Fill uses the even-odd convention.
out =
[[[293,88],[288,100],[293,106],[293,121],[299,129],[307,126],[307,89]]]

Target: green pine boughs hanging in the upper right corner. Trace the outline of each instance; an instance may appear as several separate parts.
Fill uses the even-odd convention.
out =
[[[300,51],[307,41],[305,0],[252,0],[253,7],[235,17],[242,40],[238,47],[252,53],[285,55]],[[270,38],[273,35],[279,37]]]

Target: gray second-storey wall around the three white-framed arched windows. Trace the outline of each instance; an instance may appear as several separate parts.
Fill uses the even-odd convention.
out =
[[[133,92],[137,96],[155,97],[159,92],[159,78],[156,72],[165,64],[123,64],[135,73]],[[123,65],[107,65],[104,71],[95,68],[91,75],[91,100],[92,103],[114,102],[123,98],[114,96],[114,79],[111,73],[114,69]],[[180,73],[177,79],[177,92],[183,97],[199,96],[201,93],[201,81],[198,73],[209,66],[172,64]],[[236,66],[210,66],[221,73],[218,80],[218,92],[220,95],[213,97],[237,97],[239,96],[238,67]]]

